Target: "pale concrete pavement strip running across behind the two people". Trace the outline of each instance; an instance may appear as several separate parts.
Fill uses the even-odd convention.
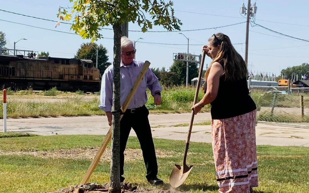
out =
[[[150,114],[149,121],[154,138],[186,140],[191,114]],[[194,122],[210,120],[210,113],[199,113]],[[3,128],[3,122],[0,122]],[[109,129],[106,116],[7,119],[7,130],[38,135],[104,135]],[[130,136],[135,136],[132,129]],[[211,142],[210,125],[193,126],[191,141]],[[309,147],[309,128],[259,123],[256,127],[257,145]]]

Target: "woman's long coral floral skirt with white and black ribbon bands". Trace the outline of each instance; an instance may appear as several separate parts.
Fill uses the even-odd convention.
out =
[[[256,110],[212,120],[211,135],[219,192],[250,193],[258,186]]]

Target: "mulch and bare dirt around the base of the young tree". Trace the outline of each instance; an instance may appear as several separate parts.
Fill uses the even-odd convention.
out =
[[[86,186],[77,185],[70,186],[64,189],[60,189],[54,192],[45,192],[45,193],[101,193],[108,192],[109,184],[87,184]],[[150,193],[178,193],[180,191],[170,190],[168,187],[163,187],[161,189],[143,189],[138,188],[136,186],[132,186],[132,184],[121,184],[121,193],[125,192],[150,192]]]

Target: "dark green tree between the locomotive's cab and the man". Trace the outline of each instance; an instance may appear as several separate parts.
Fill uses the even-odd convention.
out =
[[[98,44],[96,43],[83,43],[80,45],[80,48],[77,50],[75,58],[80,59],[88,59],[92,60],[93,64],[95,66],[96,62],[96,49],[98,47]],[[100,70],[100,74],[102,75],[105,71],[105,69],[111,65],[110,62],[108,62],[108,55],[107,55],[107,49],[103,47],[102,44],[99,45],[99,54],[98,54],[98,69]]]

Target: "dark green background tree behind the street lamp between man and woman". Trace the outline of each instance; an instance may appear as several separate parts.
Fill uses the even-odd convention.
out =
[[[170,72],[176,74],[177,85],[185,85],[186,84],[186,76],[187,76],[187,64],[182,61],[174,61],[174,63],[170,67]],[[191,80],[193,78],[198,77],[198,64],[189,62],[189,84],[191,84]]]

